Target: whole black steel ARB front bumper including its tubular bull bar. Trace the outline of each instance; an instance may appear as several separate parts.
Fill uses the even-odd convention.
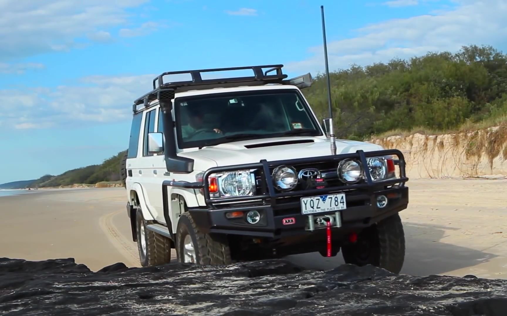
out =
[[[365,172],[365,182],[354,185],[330,186],[323,189],[310,189],[277,193],[273,186],[270,168],[278,165],[312,164],[322,161],[338,162],[347,158],[358,159],[363,166],[367,165],[367,157],[395,155],[399,159],[400,177],[373,182],[368,168]],[[208,176],[215,172],[233,171],[241,169],[262,170],[259,195],[249,197],[211,199],[208,191]],[[283,161],[261,161],[256,164],[215,167],[207,170],[203,177],[203,189],[206,207],[189,209],[199,229],[204,233],[220,233],[243,235],[252,237],[282,238],[294,235],[311,235],[308,230],[308,215],[301,214],[300,199],[302,197],[322,196],[335,193],[345,193],[347,208],[339,211],[340,227],[333,227],[333,234],[347,234],[349,232],[368,227],[392,214],[400,212],[408,205],[408,188],[405,186],[408,178],[405,176],[405,160],[399,150],[382,150],[375,152],[357,151],[356,153],[313,157],[307,159],[293,159]],[[197,188],[197,184],[189,184]],[[383,208],[377,206],[377,196],[384,195],[388,203]],[[247,211],[257,210],[261,220],[250,224],[245,220]],[[227,218],[229,212],[242,211],[243,217]],[[335,214],[335,212],[331,212]],[[330,213],[317,213],[321,216]],[[317,233],[318,234],[318,233]]]

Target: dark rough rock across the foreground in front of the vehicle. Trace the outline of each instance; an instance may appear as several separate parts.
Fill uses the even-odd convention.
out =
[[[413,277],[374,266],[304,270],[284,260],[91,272],[74,259],[0,258],[0,314],[505,315],[507,280]]]

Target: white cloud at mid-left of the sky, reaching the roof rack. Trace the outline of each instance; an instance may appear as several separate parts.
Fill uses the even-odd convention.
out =
[[[36,129],[86,122],[115,122],[132,115],[132,104],[152,89],[155,74],[87,76],[79,86],[0,90],[0,126]],[[188,80],[175,75],[172,80]],[[164,80],[169,81],[164,77]]]

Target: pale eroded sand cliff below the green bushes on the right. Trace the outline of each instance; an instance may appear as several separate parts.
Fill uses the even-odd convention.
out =
[[[442,135],[372,139],[399,149],[410,178],[507,177],[507,125]]]

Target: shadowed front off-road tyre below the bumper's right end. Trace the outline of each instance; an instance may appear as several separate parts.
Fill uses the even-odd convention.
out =
[[[362,257],[358,255],[361,249],[366,254]],[[405,260],[405,233],[400,215],[391,215],[363,230],[356,243],[344,245],[341,250],[345,263],[372,264],[399,274]]]

